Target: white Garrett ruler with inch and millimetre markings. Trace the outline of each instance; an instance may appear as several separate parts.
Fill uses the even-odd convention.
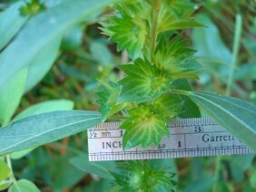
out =
[[[170,120],[171,138],[162,138],[157,146],[123,151],[125,130],[121,122],[105,122],[88,130],[90,161],[188,158],[252,153],[240,140],[210,118]]]

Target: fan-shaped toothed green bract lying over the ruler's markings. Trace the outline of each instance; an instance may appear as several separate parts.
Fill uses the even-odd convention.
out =
[[[165,118],[159,109],[153,106],[140,105],[129,110],[131,117],[125,120],[120,126],[125,129],[123,135],[123,149],[131,149],[142,145],[142,149],[148,148],[151,144],[158,145],[162,136],[170,137],[166,128],[168,119]]]

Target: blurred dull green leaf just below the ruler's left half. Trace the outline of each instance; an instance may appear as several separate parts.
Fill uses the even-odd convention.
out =
[[[113,161],[90,162],[87,156],[81,156],[70,159],[70,163],[85,173],[96,174],[101,178],[113,180],[113,176],[109,172],[115,167]]]

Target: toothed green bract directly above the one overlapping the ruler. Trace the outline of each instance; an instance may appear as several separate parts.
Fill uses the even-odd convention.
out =
[[[120,68],[127,77],[119,82],[123,89],[117,103],[154,101],[164,91],[169,90],[172,78],[147,60],[139,58],[134,64],[121,65]]]

